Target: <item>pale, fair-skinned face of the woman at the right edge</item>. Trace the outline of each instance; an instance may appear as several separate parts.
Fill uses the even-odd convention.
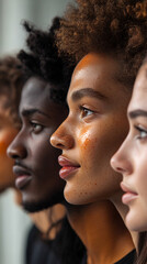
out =
[[[128,105],[129,132],[111,160],[112,167],[123,175],[121,187],[124,189],[124,194],[121,199],[127,206],[126,226],[131,230],[140,232],[147,230],[146,73],[147,63],[138,72]]]

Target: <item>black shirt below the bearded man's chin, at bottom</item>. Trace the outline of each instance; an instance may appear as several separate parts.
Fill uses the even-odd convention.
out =
[[[31,228],[26,241],[25,264],[80,264],[84,252],[84,246],[65,219],[58,238],[49,244],[43,241],[35,226]]]

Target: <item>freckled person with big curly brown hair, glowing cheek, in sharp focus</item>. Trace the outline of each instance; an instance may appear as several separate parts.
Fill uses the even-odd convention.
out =
[[[84,205],[68,217],[88,263],[133,263],[125,258],[133,243],[112,205],[124,219],[121,175],[110,160],[127,133],[126,108],[147,50],[146,1],[76,2],[56,34],[60,54],[78,65],[67,96],[69,114],[50,142],[63,150],[58,162],[66,200]]]

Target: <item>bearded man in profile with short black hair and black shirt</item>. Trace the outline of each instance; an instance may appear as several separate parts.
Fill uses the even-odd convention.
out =
[[[46,32],[25,22],[27,52],[21,51],[18,55],[27,81],[19,107],[22,127],[8,154],[14,160],[15,186],[22,194],[22,207],[30,213],[65,204],[65,183],[58,177],[57,164],[60,151],[49,144],[52,133],[68,112],[66,95],[72,73],[68,61],[58,57],[55,45],[55,30],[58,26],[58,18]],[[53,218],[53,209],[49,212],[46,213],[47,222]],[[67,218],[56,217],[46,233],[44,250],[39,235],[35,228],[31,230],[27,264],[81,263],[84,246]]]

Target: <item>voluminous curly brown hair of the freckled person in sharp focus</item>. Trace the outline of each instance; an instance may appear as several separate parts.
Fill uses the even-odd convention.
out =
[[[89,52],[112,54],[123,63],[131,86],[147,51],[147,1],[76,0],[56,33],[60,54],[79,62]]]

